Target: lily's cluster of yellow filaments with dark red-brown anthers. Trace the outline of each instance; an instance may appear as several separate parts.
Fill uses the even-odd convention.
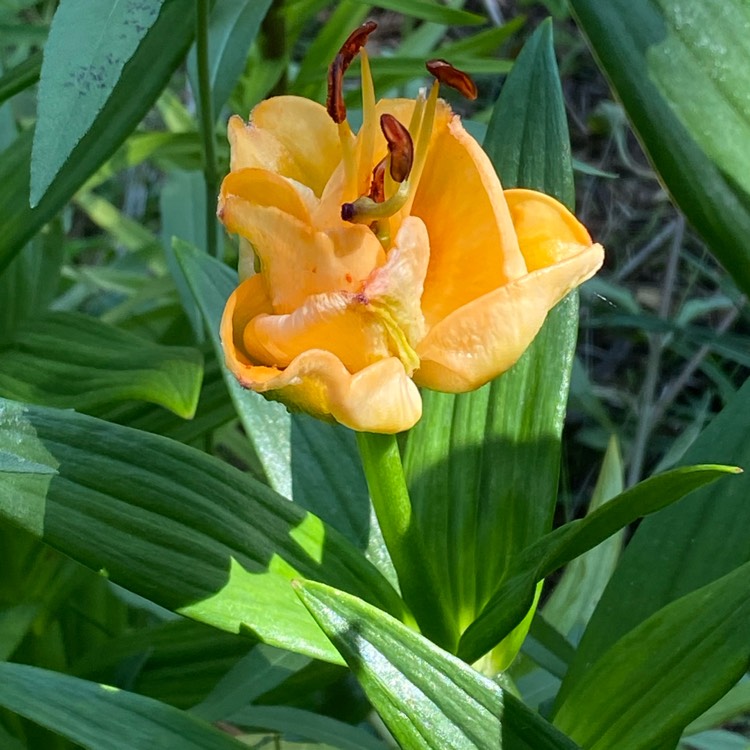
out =
[[[358,197],[341,206],[341,218],[354,224],[368,224],[384,247],[390,244],[390,218],[411,205],[422,176],[432,130],[435,124],[440,83],[457,89],[468,99],[476,99],[477,89],[471,78],[445,60],[426,63],[435,77],[429,95],[421,89],[414,112],[405,126],[393,115],[380,117],[380,129],[388,146],[387,156],[372,167],[375,150],[376,114],[375,88],[369,58],[364,49],[369,35],[375,31],[374,21],[355,29],[344,42],[328,70],[328,114],[338,125],[344,162],[344,195]],[[346,119],[343,78],[354,58],[360,55],[362,77],[362,128],[359,133],[359,154]]]

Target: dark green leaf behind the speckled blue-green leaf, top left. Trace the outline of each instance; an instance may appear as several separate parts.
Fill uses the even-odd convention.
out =
[[[19,136],[0,154],[0,270],[130,135],[184,58],[194,27],[192,3],[164,4],[93,125],[36,208],[29,207],[31,134]]]

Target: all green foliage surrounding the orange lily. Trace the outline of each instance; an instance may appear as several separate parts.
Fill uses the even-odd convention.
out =
[[[217,341],[227,116],[321,99],[368,17],[379,95],[471,73],[503,183],[608,250],[425,394],[403,599],[353,436]],[[748,39],[742,0],[0,0],[0,746],[747,748]]]

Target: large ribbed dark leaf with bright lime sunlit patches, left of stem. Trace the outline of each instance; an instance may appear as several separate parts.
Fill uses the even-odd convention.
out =
[[[157,604],[337,660],[290,578],[325,580],[401,616],[362,553],[319,518],[181,443],[70,411],[0,401],[0,516]]]

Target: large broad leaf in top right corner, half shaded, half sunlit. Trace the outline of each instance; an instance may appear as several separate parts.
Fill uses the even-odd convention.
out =
[[[747,3],[570,6],[675,202],[750,292]]]

